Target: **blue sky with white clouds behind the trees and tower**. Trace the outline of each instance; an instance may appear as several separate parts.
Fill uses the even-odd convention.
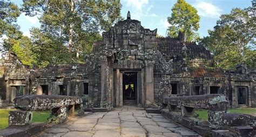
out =
[[[22,1],[14,0],[18,5]],[[158,28],[158,34],[166,36],[166,29],[170,25],[167,17],[171,16],[171,8],[177,0],[121,0],[122,16],[126,19],[127,11],[131,12],[131,18],[142,22],[142,26],[154,30]],[[200,37],[206,36],[207,30],[212,30],[219,16],[230,13],[232,8],[247,8],[251,0],[187,0],[198,10],[200,16]],[[24,13],[18,18],[18,25],[24,35],[29,36],[31,27],[40,27],[37,17],[28,17]]]

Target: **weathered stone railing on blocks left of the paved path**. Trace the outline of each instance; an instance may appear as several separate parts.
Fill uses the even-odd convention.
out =
[[[80,97],[60,95],[27,95],[14,99],[18,111],[9,112],[9,126],[29,125],[32,111],[51,111],[48,122],[64,122],[68,116],[73,116],[75,109],[82,109],[83,101]]]

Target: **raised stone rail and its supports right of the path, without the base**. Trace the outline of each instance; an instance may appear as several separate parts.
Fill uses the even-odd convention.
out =
[[[181,111],[182,117],[197,117],[196,109],[206,109],[212,125],[220,125],[223,114],[228,113],[228,100],[220,94],[163,97],[163,104],[169,105],[170,112]]]

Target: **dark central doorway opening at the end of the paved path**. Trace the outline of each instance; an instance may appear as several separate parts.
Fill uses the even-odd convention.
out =
[[[137,73],[124,73],[123,74],[123,100],[137,100]],[[137,104],[137,103],[136,103]]]

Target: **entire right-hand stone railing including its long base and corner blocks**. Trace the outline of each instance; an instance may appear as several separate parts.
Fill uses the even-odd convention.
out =
[[[227,111],[228,100],[225,95],[197,95],[197,96],[172,96],[163,93],[161,96],[163,106],[169,110],[162,113],[193,129],[203,136],[253,136],[255,135],[255,117],[248,114],[231,114]],[[198,119],[196,109],[208,111],[208,120]]]

